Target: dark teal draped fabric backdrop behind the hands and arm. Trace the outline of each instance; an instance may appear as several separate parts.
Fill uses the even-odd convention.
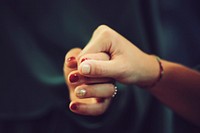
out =
[[[199,64],[199,3],[177,0],[2,0],[1,133],[188,133],[181,119],[144,90],[119,84],[107,112],[68,109],[64,56],[107,24],[143,51]]]

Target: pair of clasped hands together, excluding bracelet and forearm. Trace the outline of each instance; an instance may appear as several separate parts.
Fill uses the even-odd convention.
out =
[[[115,81],[151,85],[158,69],[154,57],[108,26],[99,26],[83,50],[74,48],[66,54],[63,70],[69,108],[81,115],[103,114],[116,93]]]

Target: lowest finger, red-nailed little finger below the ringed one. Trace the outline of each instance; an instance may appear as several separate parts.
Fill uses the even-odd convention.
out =
[[[86,104],[80,102],[71,102],[69,108],[72,112],[81,114],[81,115],[90,115],[90,116],[97,116],[103,114],[111,99],[105,99],[104,102],[93,103],[93,104]]]

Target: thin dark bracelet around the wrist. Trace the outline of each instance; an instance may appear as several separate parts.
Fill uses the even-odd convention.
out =
[[[153,55],[153,56],[155,56],[155,55]],[[159,64],[159,75],[158,75],[156,81],[151,86],[148,86],[147,88],[154,87],[162,79],[162,77],[164,75],[164,69],[163,69],[163,66],[162,66],[161,59],[158,56],[155,56],[155,57],[156,57],[156,60]]]

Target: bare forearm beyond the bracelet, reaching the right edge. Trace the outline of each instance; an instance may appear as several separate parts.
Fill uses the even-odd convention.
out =
[[[165,74],[150,92],[200,127],[200,73],[167,61],[162,61],[162,65]]]

